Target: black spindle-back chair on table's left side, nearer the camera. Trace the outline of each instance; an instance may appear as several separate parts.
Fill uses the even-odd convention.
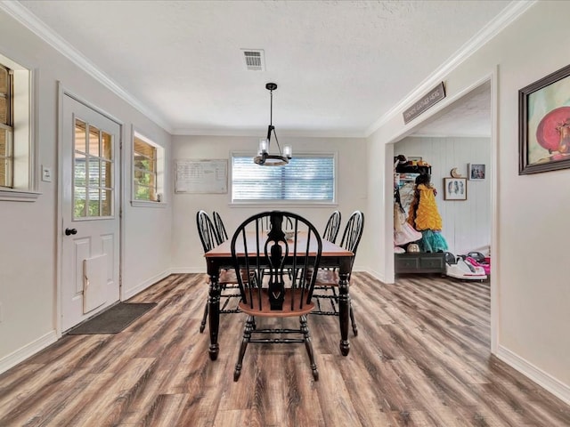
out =
[[[222,243],[218,236],[218,233],[216,232],[214,222],[212,222],[206,211],[198,211],[196,214],[196,225],[198,227],[199,239],[202,244],[202,248],[204,249],[204,254]],[[238,308],[237,302],[240,299],[240,294],[238,292],[238,278],[235,275],[235,271],[232,269],[220,270],[218,284],[222,289],[220,294],[220,302],[224,302],[220,306],[220,313],[239,313],[240,309]],[[235,303],[234,305],[230,306],[230,302],[232,301]],[[206,301],[202,321],[199,325],[200,334],[204,332],[207,320],[208,300]]]

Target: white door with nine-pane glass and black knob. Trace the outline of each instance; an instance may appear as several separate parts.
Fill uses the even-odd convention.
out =
[[[119,299],[121,126],[69,95],[61,117],[61,330]]]

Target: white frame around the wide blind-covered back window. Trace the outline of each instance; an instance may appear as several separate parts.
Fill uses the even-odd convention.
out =
[[[338,205],[338,153],[336,151],[326,151],[326,152],[303,152],[294,155],[295,157],[331,157],[333,162],[333,195],[332,200],[307,200],[307,199],[248,199],[248,200],[234,200],[233,199],[233,157],[251,157],[253,162],[253,156],[250,152],[243,151],[232,151],[230,153],[230,176],[229,183],[230,189],[228,191],[229,205],[235,207],[274,207],[275,205],[282,206],[322,206],[330,207]],[[282,166],[262,166],[258,167],[288,167],[288,165]]]

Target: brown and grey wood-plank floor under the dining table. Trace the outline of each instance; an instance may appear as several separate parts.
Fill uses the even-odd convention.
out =
[[[338,350],[338,318],[305,348],[251,344],[232,373],[242,314],[221,319],[220,354],[199,334],[204,275],[173,275],[132,302],[158,302],[124,332],[68,335],[0,375],[1,426],[541,426],[570,407],[489,351],[489,284],[353,275],[359,335]]]

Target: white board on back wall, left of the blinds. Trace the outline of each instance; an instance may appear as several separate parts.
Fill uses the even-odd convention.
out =
[[[227,159],[175,160],[175,193],[227,192]]]

